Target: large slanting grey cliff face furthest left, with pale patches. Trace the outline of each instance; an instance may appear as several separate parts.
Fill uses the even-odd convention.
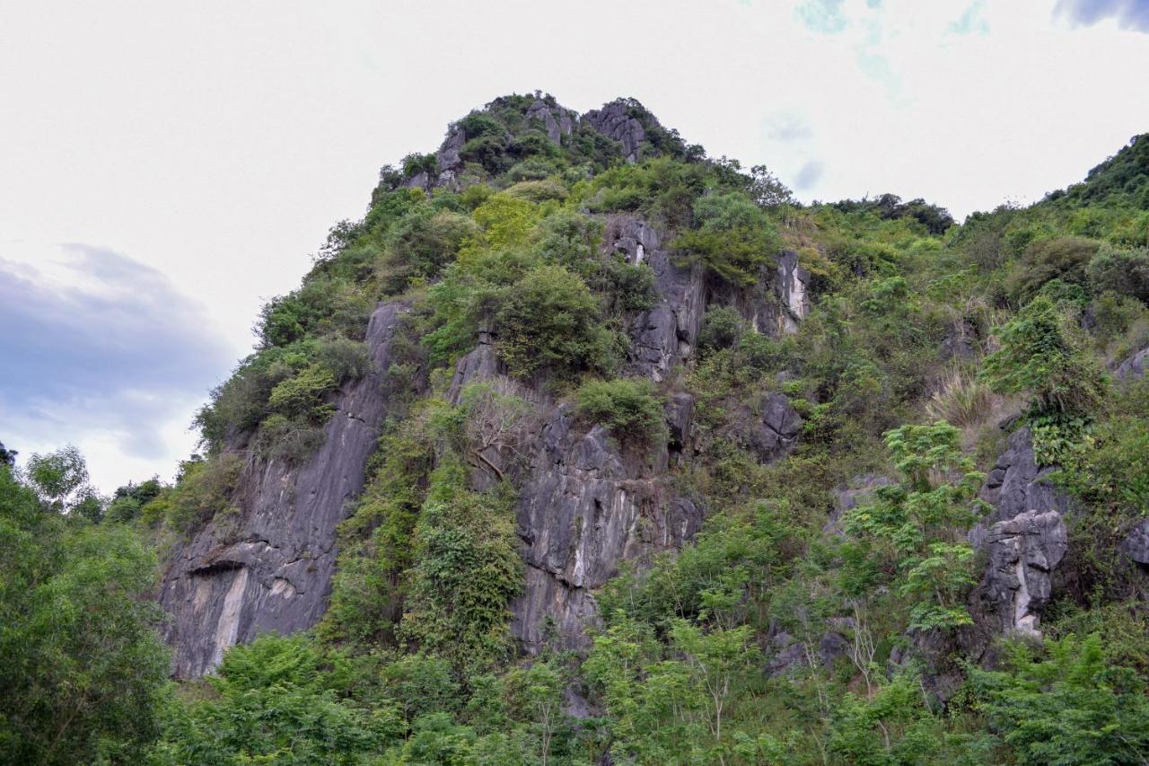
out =
[[[160,604],[171,615],[165,638],[177,676],[210,672],[228,646],[261,633],[304,630],[326,610],[336,527],[363,490],[386,412],[381,370],[403,311],[384,304],[371,316],[373,369],[339,392],[319,451],[300,467],[249,462],[233,498],[239,518],[209,521],[176,551]]]

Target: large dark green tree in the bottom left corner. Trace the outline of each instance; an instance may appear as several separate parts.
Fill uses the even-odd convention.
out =
[[[0,466],[0,760],[138,761],[168,675],[154,552],[46,512]]]

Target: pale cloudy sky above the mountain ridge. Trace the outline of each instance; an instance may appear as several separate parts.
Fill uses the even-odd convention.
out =
[[[0,0],[0,442],[170,480],[380,166],[541,90],[958,219],[1149,131],[1149,0]]]

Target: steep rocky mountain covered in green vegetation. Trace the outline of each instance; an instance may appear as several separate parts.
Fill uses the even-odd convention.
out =
[[[957,224],[496,99],[264,307],[176,484],[85,506],[159,556],[178,684],[85,650],[156,702],[55,752],[1141,763],[1147,246],[1144,136]]]

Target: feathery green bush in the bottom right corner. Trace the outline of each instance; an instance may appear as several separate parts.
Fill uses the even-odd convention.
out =
[[[985,713],[1020,764],[1138,764],[1149,752],[1144,680],[1105,664],[1101,639],[1012,644],[1003,671],[970,668]]]

